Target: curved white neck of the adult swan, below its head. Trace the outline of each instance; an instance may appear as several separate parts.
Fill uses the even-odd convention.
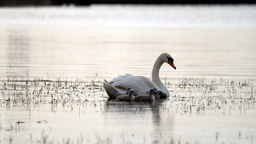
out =
[[[162,62],[159,57],[156,59],[156,62],[152,69],[152,81],[160,88],[163,92],[165,92],[169,96],[169,90],[164,86],[159,78],[159,70],[164,62]]]

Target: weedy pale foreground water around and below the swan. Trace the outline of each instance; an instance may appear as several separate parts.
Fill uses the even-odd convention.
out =
[[[255,80],[171,80],[155,102],[116,102],[102,82],[4,82],[4,143],[255,141]]]

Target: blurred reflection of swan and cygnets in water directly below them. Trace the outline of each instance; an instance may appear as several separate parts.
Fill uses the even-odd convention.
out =
[[[109,98],[104,103],[104,124],[113,124],[111,130],[126,135],[149,137],[156,142],[171,139],[174,116],[167,113],[165,100],[152,102],[116,102]],[[114,115],[114,117],[113,117]],[[121,119],[120,119],[121,118]],[[150,120],[148,120],[150,118]],[[137,129],[140,133],[137,133]],[[132,130],[132,131],[131,131]],[[141,134],[141,130],[144,132]]]

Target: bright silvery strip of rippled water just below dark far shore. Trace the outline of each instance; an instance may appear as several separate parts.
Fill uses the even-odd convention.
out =
[[[255,5],[92,5],[1,8],[0,24],[255,26]]]

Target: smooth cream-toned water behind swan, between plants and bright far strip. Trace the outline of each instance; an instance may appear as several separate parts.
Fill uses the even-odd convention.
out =
[[[162,52],[161,78],[255,78],[255,28],[114,28],[23,26],[1,28],[1,77],[111,80],[151,76]]]

